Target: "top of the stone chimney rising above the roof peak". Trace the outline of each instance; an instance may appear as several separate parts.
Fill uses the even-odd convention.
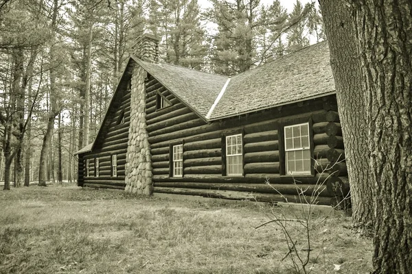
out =
[[[152,34],[143,34],[136,39],[133,46],[133,54],[141,60],[148,62],[159,61],[160,38]]]

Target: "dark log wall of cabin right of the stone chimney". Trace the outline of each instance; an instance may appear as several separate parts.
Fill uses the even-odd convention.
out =
[[[338,153],[343,153],[339,119],[332,115],[337,110],[334,97],[312,99],[206,123],[153,77],[149,77],[146,89],[146,119],[155,192],[229,199],[242,199],[245,196],[242,192],[255,192],[256,199],[262,201],[284,200],[276,190],[265,184],[268,179],[289,201],[297,201],[293,177],[282,175],[284,125],[304,122],[311,125],[312,155],[321,158],[317,160],[319,166],[311,176],[295,177],[302,188],[309,188],[308,193],[313,190],[314,184],[328,177],[322,169],[336,160]],[[156,110],[157,92],[161,92],[173,105]],[[227,177],[222,175],[225,165],[222,142],[225,136],[240,132],[243,133],[244,176]],[[170,177],[170,147],[179,143],[183,144],[184,175],[175,178]],[[325,189],[318,202],[329,204],[332,196]]]

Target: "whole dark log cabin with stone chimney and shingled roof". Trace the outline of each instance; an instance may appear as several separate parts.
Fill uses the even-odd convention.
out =
[[[78,186],[330,205],[349,192],[327,42],[233,77],[158,62],[137,39]]]

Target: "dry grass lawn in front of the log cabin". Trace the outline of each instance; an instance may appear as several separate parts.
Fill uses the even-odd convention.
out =
[[[295,219],[290,208],[273,209]],[[286,240],[253,202],[136,197],[76,186],[0,191],[0,273],[294,273]],[[315,216],[311,273],[369,273],[371,240]],[[289,232],[304,255],[301,225]],[[336,270],[336,266],[340,270]],[[339,268],[338,266],[338,268]]]

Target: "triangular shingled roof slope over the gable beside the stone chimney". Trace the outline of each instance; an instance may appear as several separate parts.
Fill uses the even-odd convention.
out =
[[[182,66],[150,63],[135,57],[133,60],[203,118],[227,81],[226,76],[204,73]]]

